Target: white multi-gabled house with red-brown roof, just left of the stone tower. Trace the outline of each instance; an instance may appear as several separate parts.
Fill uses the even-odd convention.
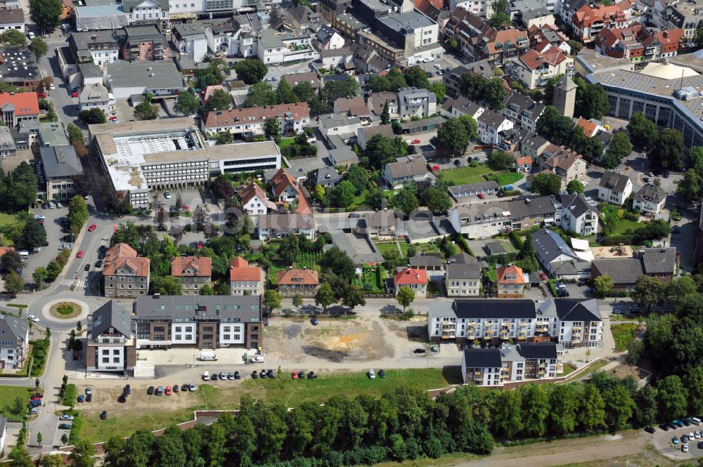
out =
[[[531,49],[514,60],[508,67],[510,76],[522,81],[529,89],[546,86],[549,79],[574,74],[574,59],[560,48],[550,47],[544,52]]]

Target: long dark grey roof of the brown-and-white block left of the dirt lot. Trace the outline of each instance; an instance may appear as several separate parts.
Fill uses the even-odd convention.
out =
[[[134,310],[137,320],[259,322],[262,318],[259,295],[140,295]]]

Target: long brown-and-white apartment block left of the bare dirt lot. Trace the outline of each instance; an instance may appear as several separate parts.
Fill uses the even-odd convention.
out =
[[[264,338],[262,296],[139,296],[134,305],[138,348],[242,346]]]

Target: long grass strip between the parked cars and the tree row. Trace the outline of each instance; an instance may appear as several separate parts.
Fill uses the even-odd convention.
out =
[[[164,428],[193,418],[194,409],[237,409],[242,395],[251,394],[257,399],[277,401],[286,407],[296,407],[302,402],[323,403],[332,395],[368,394],[379,397],[397,388],[422,390],[444,388],[460,383],[456,369],[398,369],[387,370],[385,379],[368,379],[365,373],[333,373],[318,376],[315,380],[295,380],[287,371],[274,381],[246,379],[235,386],[201,384],[195,393],[198,397],[193,407],[173,411],[154,409],[138,414],[110,412],[107,420],[97,414],[86,416],[81,426],[81,439],[90,442],[107,440],[111,436],[129,436],[136,430]],[[133,389],[134,391],[134,389]],[[134,397],[134,396],[132,396]],[[183,397],[174,395],[172,397]],[[113,415],[114,414],[114,415]]]

